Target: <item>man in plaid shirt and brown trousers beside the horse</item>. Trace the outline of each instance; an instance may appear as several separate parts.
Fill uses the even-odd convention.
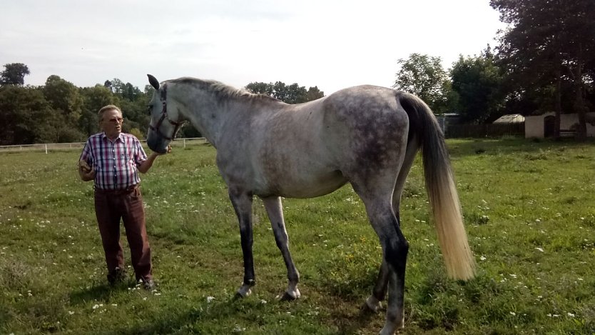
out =
[[[126,278],[120,243],[122,219],[136,280],[151,290],[155,283],[138,172],[144,174],[151,169],[158,154],[147,156],[135,136],[121,132],[123,116],[117,106],[104,106],[98,115],[101,133],[86,141],[78,174],[83,181],[94,181],[95,214],[106,254],[108,282],[113,285]]]

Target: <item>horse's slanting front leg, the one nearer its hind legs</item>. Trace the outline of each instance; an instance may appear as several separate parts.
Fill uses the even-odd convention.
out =
[[[267,210],[270,224],[273,226],[273,233],[275,234],[275,241],[283,255],[285,266],[288,269],[288,290],[283,294],[283,300],[293,300],[300,297],[300,290],[297,289],[297,283],[300,281],[300,274],[293,264],[291,254],[289,252],[288,233],[285,230],[285,220],[283,219],[283,206],[281,205],[281,198],[279,196],[271,196],[263,198],[265,209]]]

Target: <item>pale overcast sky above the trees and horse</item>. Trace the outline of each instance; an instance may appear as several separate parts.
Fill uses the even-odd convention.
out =
[[[497,45],[489,0],[0,0],[0,69],[25,84],[58,75],[79,87],[118,78],[143,90],[193,76],[241,88],[283,81],[325,94],[391,87],[399,59],[449,69]]]

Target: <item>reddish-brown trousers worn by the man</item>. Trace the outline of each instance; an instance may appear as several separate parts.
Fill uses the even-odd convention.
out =
[[[145,224],[143,196],[138,186],[121,191],[95,190],[95,214],[106,253],[108,272],[116,267],[124,269],[124,256],[120,242],[120,219],[126,229],[131,251],[131,262],[136,280],[153,278],[151,247]]]

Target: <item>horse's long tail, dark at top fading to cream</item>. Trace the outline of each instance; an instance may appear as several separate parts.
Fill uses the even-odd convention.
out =
[[[405,92],[398,92],[397,97],[410,119],[409,136],[416,136],[421,146],[426,190],[447,273],[454,279],[471,279],[475,262],[464,229],[444,134],[424,101]]]

